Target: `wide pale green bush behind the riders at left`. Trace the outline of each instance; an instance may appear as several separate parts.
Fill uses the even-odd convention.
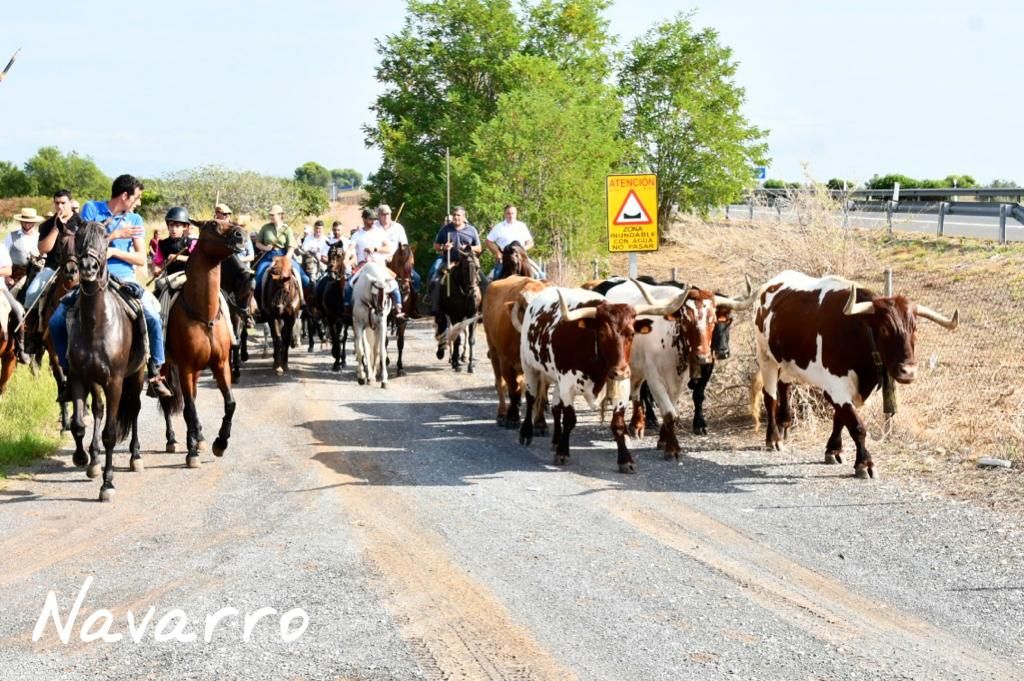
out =
[[[212,217],[218,195],[236,214],[251,213],[257,219],[273,204],[281,204],[292,216],[318,215],[328,209],[327,189],[323,187],[219,166],[170,173],[146,180],[145,186],[142,205],[153,215],[163,215],[171,206],[184,206],[197,217]],[[154,201],[147,202],[151,195]]]

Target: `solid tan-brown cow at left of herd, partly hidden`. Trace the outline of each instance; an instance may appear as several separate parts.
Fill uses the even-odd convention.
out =
[[[505,428],[518,427],[522,396],[522,361],[519,358],[519,329],[516,327],[519,320],[513,321],[512,307],[519,301],[518,316],[529,300],[547,287],[547,283],[536,279],[507,276],[492,282],[483,294],[483,329],[487,335],[487,356],[495,370],[495,391],[498,393],[497,421],[499,426]]]

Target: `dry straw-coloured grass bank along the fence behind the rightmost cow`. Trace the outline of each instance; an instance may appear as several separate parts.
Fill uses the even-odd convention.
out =
[[[881,293],[889,267],[896,293],[945,313],[958,308],[955,332],[919,326],[920,378],[900,386],[888,436],[882,437],[881,397],[872,395],[860,410],[868,446],[886,474],[928,477],[952,496],[1024,509],[1024,248],[845,229],[823,197],[809,199],[801,214],[801,224],[685,218],[673,225],[668,246],[639,256],[640,272],[668,279],[675,267],[682,280],[738,294],[744,274],[760,283],[799,269],[842,274]],[[581,281],[593,273],[590,264],[584,269]],[[625,273],[626,257],[610,258],[610,269]],[[753,432],[748,408],[757,367],[749,316],[734,325],[732,349],[733,358],[719,366],[709,386],[709,421],[732,445],[757,445],[764,433]],[[794,392],[798,423],[791,445],[817,457],[831,427],[830,409],[812,389]],[[688,396],[682,407],[690,413]],[[1009,459],[1014,470],[978,469],[980,457]]]

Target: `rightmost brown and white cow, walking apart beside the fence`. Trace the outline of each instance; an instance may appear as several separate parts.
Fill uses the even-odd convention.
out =
[[[947,318],[903,296],[876,296],[839,276],[813,279],[786,270],[762,286],[754,332],[768,448],[781,449],[793,422],[790,384],[807,383],[821,388],[835,410],[825,463],[843,462],[845,427],[857,448],[854,474],[874,477],[864,446],[866,431],[855,408],[881,387],[883,372],[898,383],[913,381],[919,317],[950,330],[959,322],[957,311]]]

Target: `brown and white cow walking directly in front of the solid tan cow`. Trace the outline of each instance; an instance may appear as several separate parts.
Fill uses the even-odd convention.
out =
[[[610,303],[598,293],[552,287],[538,293],[526,307],[520,335],[520,360],[526,384],[526,415],[519,427],[520,444],[534,438],[534,403],[545,384],[554,387],[555,464],[569,458],[569,435],[575,426],[577,395],[591,409],[605,394],[612,398],[611,432],[618,450],[618,470],[631,473],[636,462],[626,448],[626,401],[630,392],[630,353],[635,334],[648,334],[650,320],[641,314],[672,314],[687,292],[660,305]]]

